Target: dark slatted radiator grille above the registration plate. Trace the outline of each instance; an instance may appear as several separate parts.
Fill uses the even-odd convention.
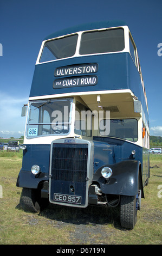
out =
[[[86,182],[87,160],[87,144],[53,144],[51,179]]]

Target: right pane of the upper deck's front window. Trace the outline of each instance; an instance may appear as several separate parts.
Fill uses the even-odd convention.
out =
[[[124,50],[124,29],[85,32],[82,34],[80,54],[118,52]]]

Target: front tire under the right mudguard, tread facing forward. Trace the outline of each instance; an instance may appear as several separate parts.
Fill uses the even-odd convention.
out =
[[[121,196],[120,223],[122,228],[133,229],[137,222],[137,197]]]

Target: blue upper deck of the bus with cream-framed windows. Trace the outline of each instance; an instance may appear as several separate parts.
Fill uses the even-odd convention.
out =
[[[137,48],[128,27],[124,22],[98,22],[43,40],[29,99],[125,89],[147,108]]]

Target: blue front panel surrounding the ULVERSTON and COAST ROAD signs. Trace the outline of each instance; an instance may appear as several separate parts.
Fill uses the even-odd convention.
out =
[[[118,54],[103,54],[100,56],[85,56],[71,59],[57,60],[46,64],[35,66],[33,82],[31,85],[30,97],[72,93],[72,92],[89,92],[97,90],[115,90],[128,89],[128,74],[127,74],[127,58],[128,53]],[[54,76],[56,68],[76,64],[97,63],[98,72],[88,75],[95,75],[98,77],[98,83],[95,86],[84,87],[66,87],[61,89],[54,89],[53,82],[58,79]],[[87,75],[87,74],[86,74]],[[74,76],[74,75],[73,75]],[[83,76],[83,75],[81,75]],[[72,76],[68,76],[72,77]],[[78,77],[78,75],[77,75]],[[67,76],[64,76],[67,79]]]

